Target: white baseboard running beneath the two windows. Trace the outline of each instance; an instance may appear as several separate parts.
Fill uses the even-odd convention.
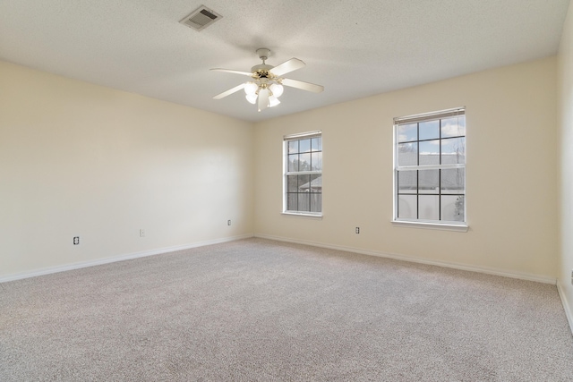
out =
[[[323,242],[308,242],[308,241],[304,241],[304,240],[290,239],[290,238],[280,237],[280,236],[271,236],[268,234],[261,234],[261,233],[255,233],[254,237],[260,237],[261,239],[276,240],[278,242],[294,242],[297,244],[312,245],[314,247],[328,248],[330,250],[345,250],[346,252],[360,253],[363,255],[377,256],[380,258],[389,258],[389,259],[410,261],[410,262],[426,264],[426,265],[431,265],[431,266],[450,267],[450,268],[466,270],[466,271],[470,271],[470,272],[484,273],[484,274],[488,274],[488,275],[504,276],[504,277],[510,277],[510,278],[517,278],[520,280],[535,281],[537,283],[543,283],[543,284],[557,284],[557,278],[549,277],[549,276],[528,275],[528,274],[524,274],[524,273],[520,273],[520,272],[507,272],[507,271],[502,271],[499,269],[489,268],[489,267],[474,267],[474,266],[467,266],[464,264],[450,263],[450,262],[446,262],[446,261],[419,259],[419,258],[415,258],[415,257],[397,255],[397,254],[393,254],[393,253],[383,253],[383,252],[377,252],[377,251],[372,251],[372,250],[360,250],[357,248],[343,247],[343,246],[339,246],[339,245],[326,244]]]

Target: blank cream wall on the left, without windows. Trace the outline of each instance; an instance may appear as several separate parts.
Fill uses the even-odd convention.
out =
[[[2,62],[0,89],[0,279],[252,235],[252,123]]]

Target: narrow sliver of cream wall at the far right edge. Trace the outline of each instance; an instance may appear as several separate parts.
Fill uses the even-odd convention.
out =
[[[573,330],[573,6],[561,36],[560,83],[560,259],[559,287]]]

